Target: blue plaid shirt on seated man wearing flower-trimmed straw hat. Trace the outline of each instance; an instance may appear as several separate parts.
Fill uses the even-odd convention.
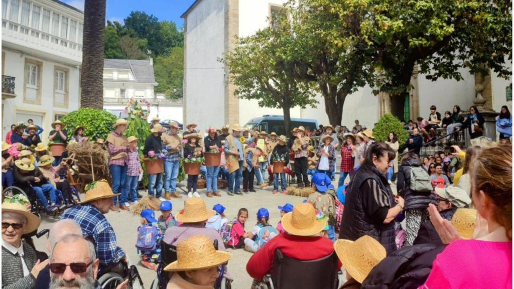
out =
[[[77,222],[84,237],[93,237],[101,265],[118,263],[125,256],[123,250],[118,247],[113,227],[97,207],[91,204],[71,207],[61,216],[61,220],[64,219]]]

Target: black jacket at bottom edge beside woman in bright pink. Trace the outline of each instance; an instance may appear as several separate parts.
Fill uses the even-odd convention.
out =
[[[417,288],[425,283],[435,257],[445,247],[446,245],[420,244],[398,249],[371,270],[361,288]]]

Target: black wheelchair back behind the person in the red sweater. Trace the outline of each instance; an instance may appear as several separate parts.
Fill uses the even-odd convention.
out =
[[[335,252],[326,257],[302,261],[275,251],[271,272],[263,278],[260,289],[337,289],[339,259]]]

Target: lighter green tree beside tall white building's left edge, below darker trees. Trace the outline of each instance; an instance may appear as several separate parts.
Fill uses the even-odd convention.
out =
[[[168,98],[182,97],[182,79],[184,70],[184,50],[182,47],[171,48],[168,56],[158,56],[155,60],[155,79],[159,83],[156,93],[164,93]]]

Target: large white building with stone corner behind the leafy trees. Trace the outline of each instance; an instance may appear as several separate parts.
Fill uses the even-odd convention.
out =
[[[261,108],[255,100],[234,97],[235,87],[228,82],[228,70],[218,58],[235,47],[235,36],[247,37],[258,29],[270,25],[268,17],[282,8],[285,0],[196,0],[182,14],[184,19],[184,118],[196,122],[200,129],[213,125],[245,124],[249,119],[265,114],[282,115],[280,109]],[[381,115],[393,112],[407,119],[428,117],[432,104],[444,113],[458,104],[467,110],[472,105],[474,76],[462,70],[464,80],[427,80],[414,71],[414,89],[406,99],[391,98],[381,94],[375,96],[370,87],[363,87],[346,98],[342,124],[351,126],[355,119],[372,128]],[[498,112],[507,104],[505,81],[491,77],[492,107]],[[316,109],[295,108],[291,117],[314,118],[328,124],[323,97],[318,95]],[[511,102],[508,102],[511,105]],[[403,118],[403,117],[402,117]]]

